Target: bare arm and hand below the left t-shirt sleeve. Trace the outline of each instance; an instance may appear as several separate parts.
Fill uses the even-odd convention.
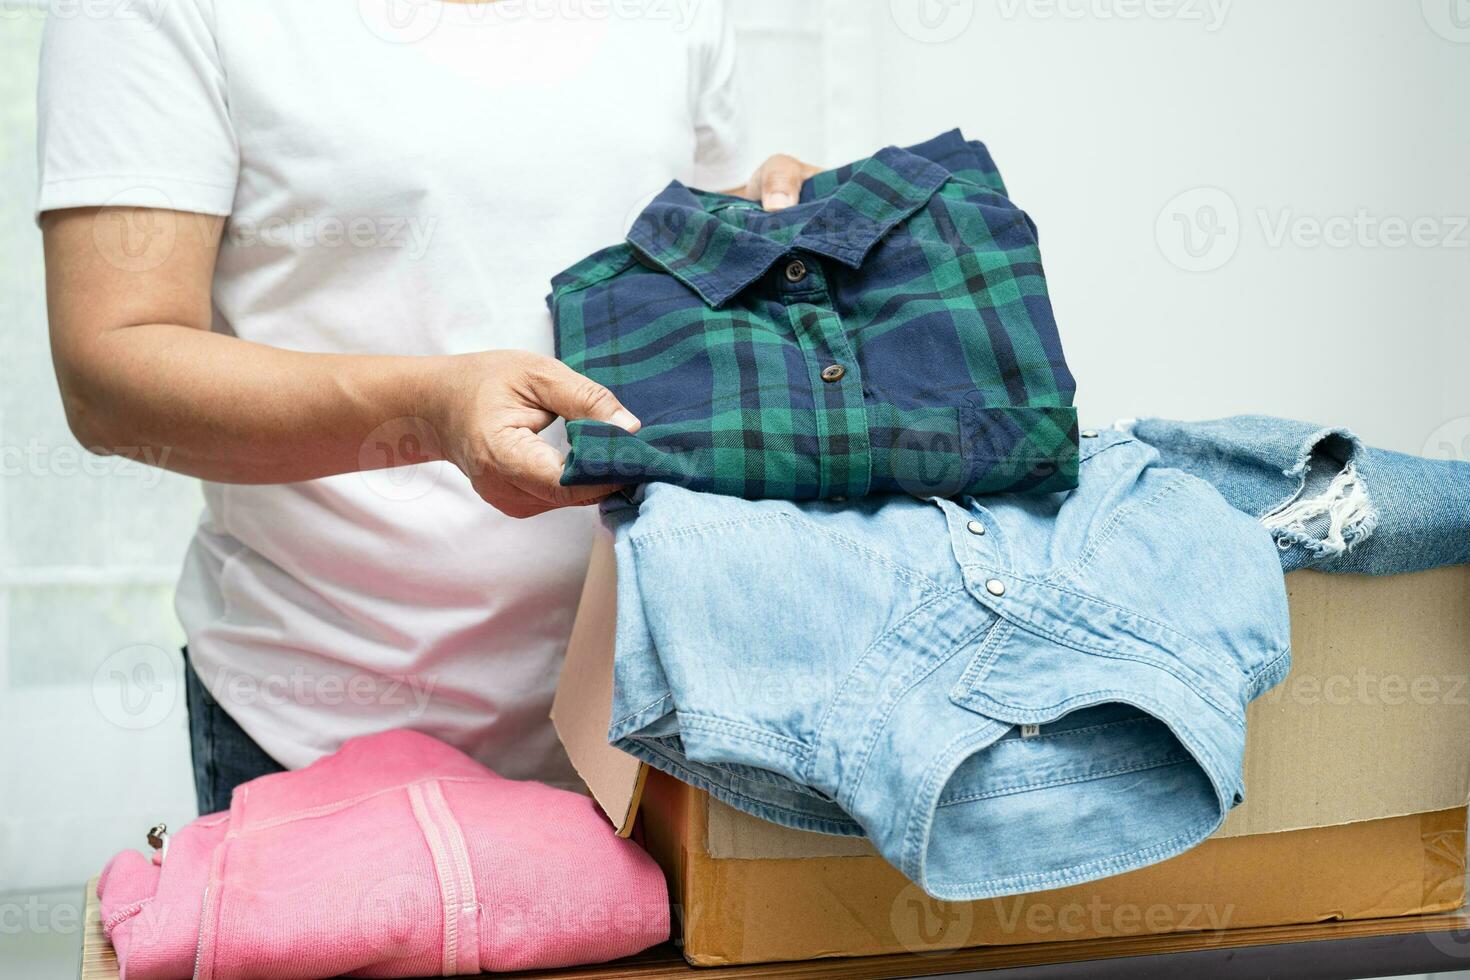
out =
[[[304,354],[212,334],[223,219],[85,207],[41,228],[57,382],[94,453],[229,483],[447,458],[525,517],[613,489],[559,485],[537,435],[557,416],[638,428],[606,388],[525,351]]]

